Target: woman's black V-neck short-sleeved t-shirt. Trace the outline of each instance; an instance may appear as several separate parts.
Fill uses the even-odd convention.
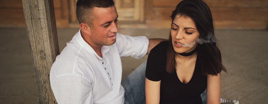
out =
[[[207,86],[207,77],[201,74],[196,61],[194,74],[188,83],[182,83],[177,73],[166,72],[168,41],[155,46],[147,59],[146,78],[161,81],[160,104],[202,104],[200,94]]]

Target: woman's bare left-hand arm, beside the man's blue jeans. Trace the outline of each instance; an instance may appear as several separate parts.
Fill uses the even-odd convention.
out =
[[[146,104],[159,104],[160,102],[160,83],[161,81],[145,80]]]

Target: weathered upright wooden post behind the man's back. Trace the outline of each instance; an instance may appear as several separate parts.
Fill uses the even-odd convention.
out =
[[[59,52],[53,0],[22,0],[39,104],[55,104],[49,74]]]

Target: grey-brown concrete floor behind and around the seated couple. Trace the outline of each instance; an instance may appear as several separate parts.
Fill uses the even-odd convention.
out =
[[[79,29],[57,29],[60,51]],[[168,38],[169,29],[119,29],[120,33]],[[268,31],[216,30],[228,73],[221,97],[240,104],[268,103]],[[26,28],[0,28],[0,104],[36,104],[37,89]],[[147,59],[122,58],[123,78]]]

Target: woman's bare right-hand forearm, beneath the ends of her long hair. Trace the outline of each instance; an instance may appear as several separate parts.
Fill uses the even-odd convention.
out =
[[[221,75],[207,75],[207,104],[219,104],[221,97]]]

